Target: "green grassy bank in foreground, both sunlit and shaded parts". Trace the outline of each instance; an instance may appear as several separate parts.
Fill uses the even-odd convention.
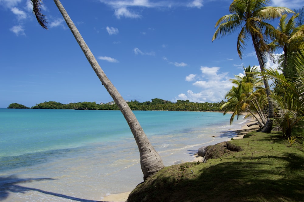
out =
[[[243,151],[165,167],[139,184],[128,202],[304,201],[304,150],[297,139],[288,147],[280,133],[251,132],[230,141]]]

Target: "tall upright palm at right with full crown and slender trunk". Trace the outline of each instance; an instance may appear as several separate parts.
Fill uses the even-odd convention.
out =
[[[240,28],[241,31],[237,37],[237,52],[242,59],[242,51],[246,41],[252,39],[255,53],[261,68],[265,72],[265,62],[268,59],[270,46],[268,46],[267,36],[273,36],[275,28],[266,21],[279,18],[285,12],[293,12],[285,7],[266,6],[268,0],[234,0],[229,7],[231,14],[224,15],[217,22],[216,32],[212,41],[220,36],[226,36]],[[263,74],[262,74],[263,75]],[[268,81],[263,75],[266,94],[268,97],[268,120],[261,132],[271,132],[272,118],[274,115],[273,104],[270,99],[271,91]]]

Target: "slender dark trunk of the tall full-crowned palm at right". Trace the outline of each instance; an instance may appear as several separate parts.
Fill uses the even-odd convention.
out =
[[[252,38],[252,42],[253,42],[253,46],[254,46],[254,50],[255,53],[257,54],[257,60],[259,61],[260,64],[260,68],[261,68],[261,73],[262,73],[262,77],[263,77],[263,81],[264,81],[264,86],[265,86],[265,90],[266,90],[266,95],[268,98],[268,117],[267,117],[267,122],[264,125],[264,127],[262,127],[260,129],[260,132],[265,132],[265,133],[270,133],[272,130],[272,123],[273,123],[273,115],[274,115],[274,108],[273,108],[273,103],[270,99],[270,95],[271,95],[271,91],[269,89],[269,84],[268,81],[265,77],[265,65],[264,65],[264,60],[262,57],[262,53],[261,50],[258,47],[258,43],[257,43],[257,38],[254,35],[251,35]]]

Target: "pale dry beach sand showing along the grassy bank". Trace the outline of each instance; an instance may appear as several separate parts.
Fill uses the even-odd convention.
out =
[[[235,137],[233,137],[233,139],[242,139],[244,135],[246,135],[247,133],[252,131],[257,131],[259,129],[259,125],[252,125],[250,127],[247,126],[252,122],[256,122],[256,120],[255,119],[246,120],[246,122],[244,122],[244,125],[242,125],[240,129],[233,130],[233,132],[236,134]],[[226,141],[230,141],[230,139]],[[193,162],[202,161],[203,157],[198,156],[197,153],[194,155],[196,156]],[[108,196],[105,196],[100,202],[125,202],[128,199],[130,193],[131,192],[110,194]]]

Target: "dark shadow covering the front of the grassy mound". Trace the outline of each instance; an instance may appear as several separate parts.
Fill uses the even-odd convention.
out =
[[[272,169],[268,158],[283,162]],[[223,162],[213,166],[211,163],[197,172],[200,174],[195,178],[188,178],[187,175],[191,176],[190,172],[200,165],[188,164],[184,177],[163,173],[149,186],[141,184],[140,192],[131,193],[128,202],[304,201],[304,159],[301,156],[286,154],[282,157],[264,156],[250,160]]]

